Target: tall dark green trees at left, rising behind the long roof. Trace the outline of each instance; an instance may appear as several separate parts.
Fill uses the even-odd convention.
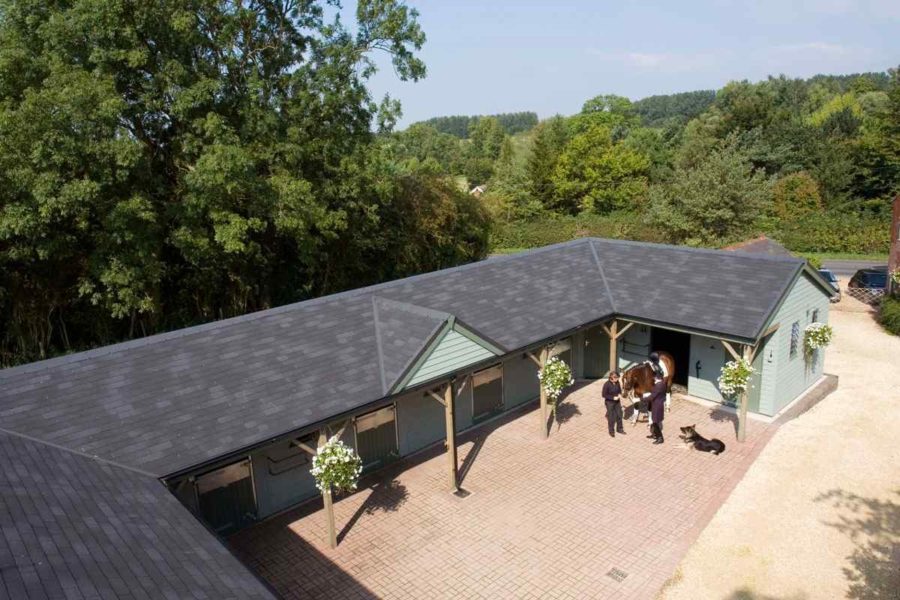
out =
[[[482,206],[373,131],[416,12],[329,5],[0,0],[0,363],[483,256]]]

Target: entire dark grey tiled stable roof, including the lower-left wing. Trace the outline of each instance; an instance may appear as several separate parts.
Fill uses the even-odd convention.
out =
[[[613,315],[754,339],[802,265],[582,239],[0,370],[0,591],[265,597],[156,477],[377,402],[451,315],[504,351]]]

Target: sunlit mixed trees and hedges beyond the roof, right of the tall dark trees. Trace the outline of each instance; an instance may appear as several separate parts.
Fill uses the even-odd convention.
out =
[[[884,253],[900,192],[900,75],[772,77],[634,103],[601,95],[528,139],[502,194],[487,185],[504,222],[497,248],[531,245],[542,228],[542,240],[568,235],[564,215],[616,235],[587,214],[628,213],[641,239],[715,247],[766,233],[797,252]]]

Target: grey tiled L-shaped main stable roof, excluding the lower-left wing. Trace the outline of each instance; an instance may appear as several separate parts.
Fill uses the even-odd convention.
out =
[[[581,239],[0,370],[0,424],[162,477],[377,401],[443,315],[507,351],[615,313],[751,339],[801,266]]]

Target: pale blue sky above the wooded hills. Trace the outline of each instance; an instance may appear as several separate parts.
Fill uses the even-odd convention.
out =
[[[637,99],[900,64],[900,0],[408,3],[428,36],[428,76],[401,82],[379,61],[370,82],[376,98],[402,102],[401,126],[450,114],[547,117],[597,94]]]

